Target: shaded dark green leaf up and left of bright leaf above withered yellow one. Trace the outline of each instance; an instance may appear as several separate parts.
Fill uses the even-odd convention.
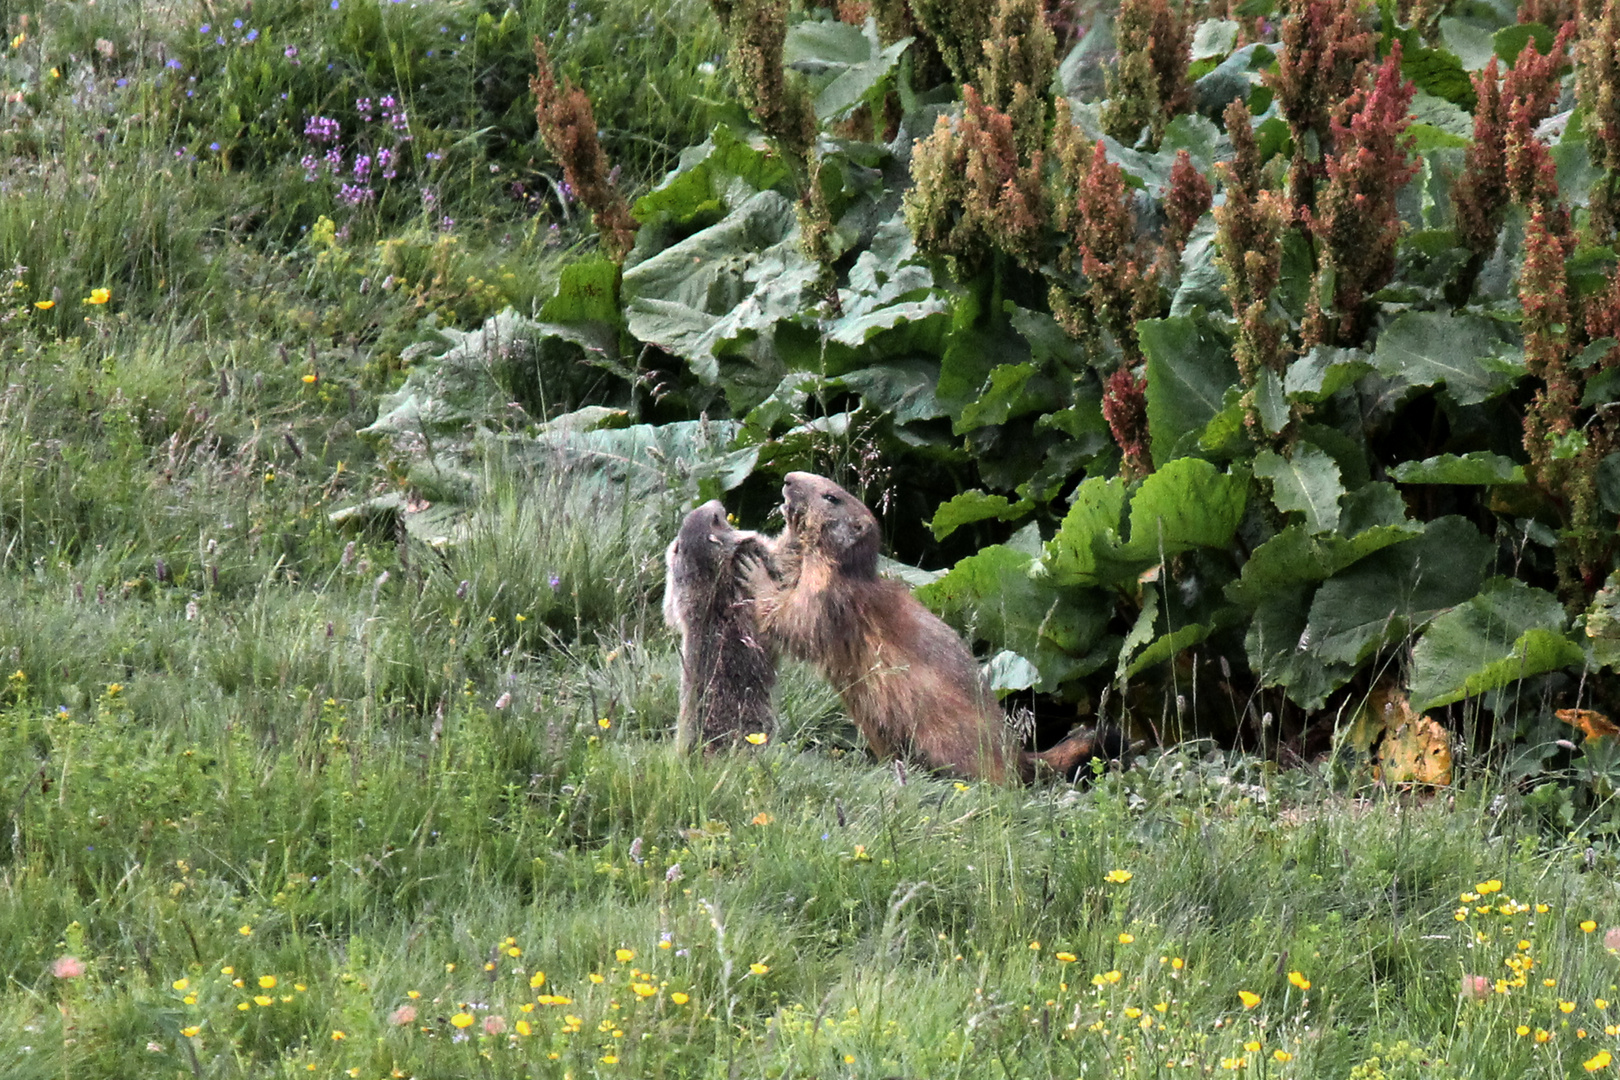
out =
[[[1477,593],[1494,552],[1464,518],[1430,521],[1422,536],[1361,559],[1317,589],[1307,648],[1327,664],[1361,664]]]

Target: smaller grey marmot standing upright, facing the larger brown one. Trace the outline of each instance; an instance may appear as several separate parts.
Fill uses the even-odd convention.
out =
[[[765,539],[732,528],[716,500],[688,513],[664,552],[664,622],[680,631],[677,750],[771,727],[776,657],[744,583],[765,557]]]

